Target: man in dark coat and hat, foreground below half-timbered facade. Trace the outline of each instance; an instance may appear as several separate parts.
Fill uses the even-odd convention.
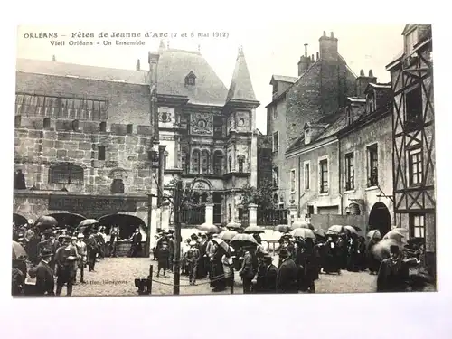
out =
[[[400,257],[399,246],[391,245],[390,256],[381,261],[377,277],[377,292],[405,292],[409,268]]]

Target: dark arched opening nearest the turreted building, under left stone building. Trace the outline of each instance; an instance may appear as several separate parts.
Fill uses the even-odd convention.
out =
[[[129,239],[134,231],[139,228],[143,236],[143,241],[146,241],[146,222],[129,214],[108,214],[98,219],[99,224],[105,226],[106,233],[109,234],[113,226],[119,227],[119,238]]]

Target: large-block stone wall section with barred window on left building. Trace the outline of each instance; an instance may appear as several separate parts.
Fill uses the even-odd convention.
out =
[[[61,121],[59,121],[60,124]],[[146,194],[151,181],[147,127],[126,133],[126,125],[115,124],[109,132],[90,133],[52,129],[16,128],[14,169],[24,173],[27,188],[39,190],[108,194],[113,179],[121,179],[124,193]],[[105,147],[105,159],[99,159],[99,146]],[[83,168],[83,184],[52,184],[52,165],[72,163]]]

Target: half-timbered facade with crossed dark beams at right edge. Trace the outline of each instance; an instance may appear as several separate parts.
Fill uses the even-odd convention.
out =
[[[436,202],[431,25],[407,24],[404,51],[387,67],[392,111],[393,193],[396,224],[424,240],[435,268]]]

